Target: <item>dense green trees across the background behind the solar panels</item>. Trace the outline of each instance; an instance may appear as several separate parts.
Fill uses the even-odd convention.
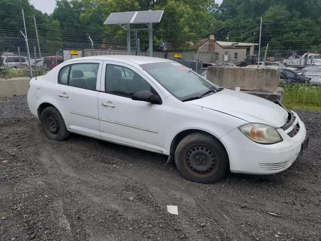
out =
[[[36,16],[41,37],[47,39],[107,41],[126,44],[126,33],[117,25],[103,25],[112,12],[165,10],[162,22],[153,25],[154,48],[170,43],[174,50],[187,48],[211,34],[217,40],[257,43],[260,17],[263,17],[262,46],[321,50],[320,0],[57,0],[48,16],[28,0],[0,0],[0,31],[20,35],[21,8],[25,10],[28,35],[35,37],[32,16]],[[56,22],[56,21],[59,21]],[[137,26],[142,28],[143,25]],[[141,49],[146,50],[147,33],[139,32]]]

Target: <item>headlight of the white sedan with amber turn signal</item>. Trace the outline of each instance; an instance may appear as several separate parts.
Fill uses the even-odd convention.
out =
[[[276,129],[265,124],[249,123],[238,127],[238,129],[246,137],[259,144],[274,144],[282,141]]]

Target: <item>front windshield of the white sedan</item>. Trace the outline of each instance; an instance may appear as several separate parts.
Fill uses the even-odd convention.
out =
[[[177,62],[140,65],[159,84],[182,101],[202,98],[219,87]]]

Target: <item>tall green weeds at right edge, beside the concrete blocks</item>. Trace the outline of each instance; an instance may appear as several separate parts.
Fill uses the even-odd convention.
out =
[[[321,85],[282,84],[283,104],[289,108],[309,108],[321,110]]]

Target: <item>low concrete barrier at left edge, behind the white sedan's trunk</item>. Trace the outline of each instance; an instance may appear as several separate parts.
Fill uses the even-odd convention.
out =
[[[0,97],[26,95],[29,89],[30,78],[0,79]]]

